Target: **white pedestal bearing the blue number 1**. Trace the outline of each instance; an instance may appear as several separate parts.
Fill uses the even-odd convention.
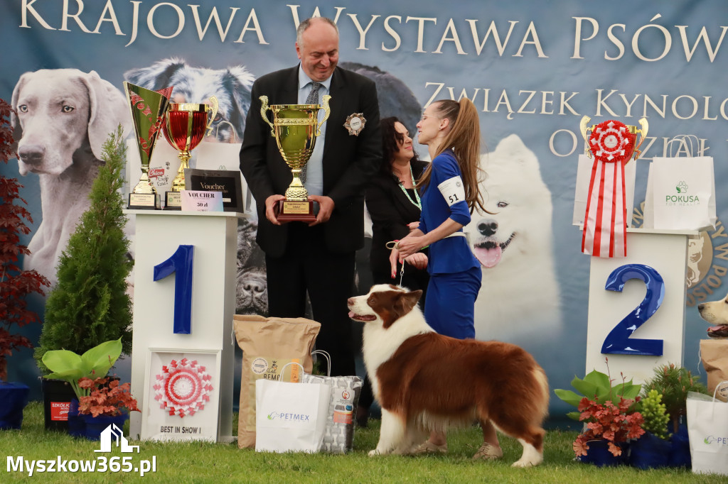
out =
[[[130,437],[181,440],[183,436],[173,432],[175,427],[186,427],[189,432],[194,427],[194,433],[184,438],[232,440],[237,219],[246,216],[159,210],[124,213],[136,218],[131,390],[142,410],[131,414]],[[154,281],[154,267],[172,257],[181,245],[194,246],[190,334],[173,332],[176,274]],[[143,416],[145,424],[161,418],[152,389],[155,371],[149,374],[148,368],[150,360],[161,359],[159,355],[191,360],[190,355],[199,355],[207,363],[205,371],[213,377],[214,389],[205,395],[209,400],[205,400],[204,410],[186,417],[167,415],[172,429],[161,430],[170,432],[164,437],[155,435],[149,425],[142,428]],[[151,414],[154,418],[148,419]],[[159,424],[154,425],[160,432]]]

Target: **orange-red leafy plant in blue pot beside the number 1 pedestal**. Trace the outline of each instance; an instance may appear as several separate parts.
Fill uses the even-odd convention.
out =
[[[79,387],[90,392],[88,396],[81,397],[79,403],[79,414],[86,422],[86,437],[90,440],[99,440],[103,429],[110,424],[124,427],[129,412],[139,411],[129,383],[84,377],[79,380]]]

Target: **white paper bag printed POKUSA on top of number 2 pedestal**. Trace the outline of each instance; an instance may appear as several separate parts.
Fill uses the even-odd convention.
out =
[[[650,211],[654,214],[655,229],[715,227],[716,186],[712,156],[655,156],[650,164],[648,188],[651,190],[648,190],[645,206],[647,210],[648,201],[652,203]]]

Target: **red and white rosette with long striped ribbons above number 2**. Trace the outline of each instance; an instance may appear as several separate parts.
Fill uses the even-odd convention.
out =
[[[595,159],[582,233],[585,254],[627,255],[625,164],[634,152],[635,140],[636,134],[620,121],[604,121],[592,130],[589,148]]]

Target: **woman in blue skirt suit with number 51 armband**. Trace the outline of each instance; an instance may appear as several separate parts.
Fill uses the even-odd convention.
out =
[[[430,246],[427,271],[430,283],[424,317],[439,334],[458,339],[475,338],[475,298],[481,270],[470,250],[463,227],[476,206],[482,211],[478,190],[480,170],[480,120],[470,100],[439,100],[424,110],[417,124],[419,142],[427,145],[432,163],[417,186],[422,187],[419,227],[397,242],[389,257],[392,277],[397,261]],[[476,458],[503,455],[495,429],[483,427],[486,443]],[[416,453],[446,452],[443,432],[432,432]]]

